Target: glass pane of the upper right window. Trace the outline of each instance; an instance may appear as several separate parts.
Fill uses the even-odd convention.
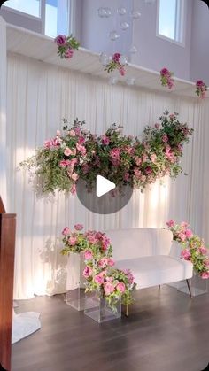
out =
[[[185,0],[159,0],[158,35],[183,42]]]

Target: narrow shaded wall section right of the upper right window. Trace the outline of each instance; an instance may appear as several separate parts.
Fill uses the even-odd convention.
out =
[[[194,2],[191,40],[191,80],[209,85],[209,9],[202,1]]]

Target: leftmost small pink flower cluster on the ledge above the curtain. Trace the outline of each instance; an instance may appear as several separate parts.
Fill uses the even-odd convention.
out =
[[[58,56],[62,59],[72,58],[74,56],[74,50],[78,50],[80,46],[80,43],[73,35],[58,35],[54,41],[58,45]]]

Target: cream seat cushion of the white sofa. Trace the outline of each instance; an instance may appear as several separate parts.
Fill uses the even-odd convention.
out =
[[[182,281],[191,278],[193,274],[190,261],[166,255],[118,260],[116,267],[131,270],[137,289]]]

